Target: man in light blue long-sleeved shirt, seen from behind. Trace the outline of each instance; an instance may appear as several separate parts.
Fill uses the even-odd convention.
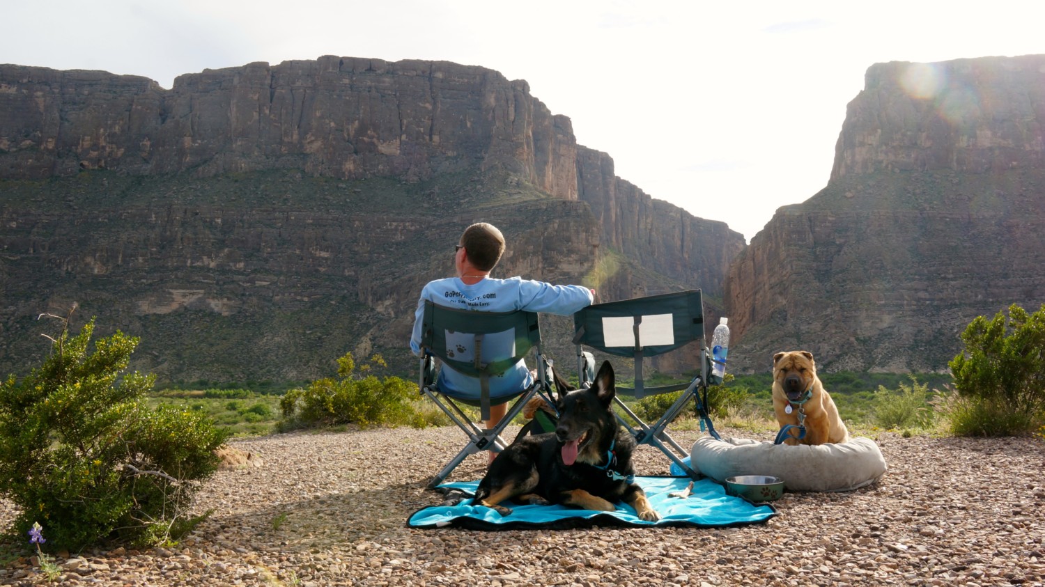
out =
[[[424,314],[424,302],[431,301],[441,306],[478,310],[487,312],[507,312],[527,310],[570,315],[591,304],[594,289],[580,285],[552,285],[542,281],[525,280],[519,277],[496,279],[490,277],[490,272],[501,260],[505,252],[505,237],[496,227],[479,222],[474,224],[461,235],[461,240],[454,246],[454,267],[457,277],[437,279],[428,282],[421,290],[414,322],[414,333],[411,336],[410,348],[415,355],[421,352],[421,322]],[[533,376],[526,366],[519,361],[508,369],[502,377],[489,381],[491,397],[504,396],[514,391],[525,390],[533,382]],[[439,372],[438,385],[444,392],[467,396],[473,399],[480,397],[480,381],[450,369],[447,366]],[[505,416],[507,404],[490,406],[490,419],[486,427],[493,428]],[[490,453],[492,461],[494,453]]]

